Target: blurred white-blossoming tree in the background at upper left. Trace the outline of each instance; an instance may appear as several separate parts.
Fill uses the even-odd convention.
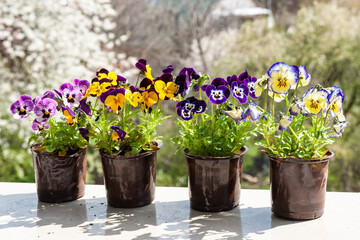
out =
[[[1,0],[0,129],[20,127],[9,106],[21,94],[91,80],[102,67],[127,76],[129,59],[112,50],[115,14],[111,0]]]

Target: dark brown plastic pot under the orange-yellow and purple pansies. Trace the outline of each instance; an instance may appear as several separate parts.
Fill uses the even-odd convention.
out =
[[[150,204],[155,197],[156,151],[112,156],[100,151],[109,205],[119,208]]]

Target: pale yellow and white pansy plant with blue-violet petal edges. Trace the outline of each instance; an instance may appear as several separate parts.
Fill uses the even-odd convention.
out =
[[[343,91],[337,86],[323,88],[316,85],[298,98],[298,88],[309,85],[310,80],[305,66],[279,62],[255,83],[257,95],[267,92],[263,115],[257,124],[257,132],[264,140],[257,144],[268,154],[322,158],[328,151],[326,146],[332,144],[334,138],[341,137],[347,125],[342,110]],[[270,111],[267,111],[268,96],[271,98]],[[280,102],[285,102],[283,112],[275,114],[275,105]]]

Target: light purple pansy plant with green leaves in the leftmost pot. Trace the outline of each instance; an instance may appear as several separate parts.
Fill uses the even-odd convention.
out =
[[[75,79],[42,96],[22,95],[10,106],[10,111],[16,119],[32,121],[34,134],[29,143],[40,143],[36,145],[38,150],[60,156],[71,154],[87,146],[79,128],[85,126],[92,114],[86,98],[81,100],[89,86],[88,81]]]

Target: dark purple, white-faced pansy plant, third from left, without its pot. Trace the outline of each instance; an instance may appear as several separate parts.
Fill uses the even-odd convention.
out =
[[[180,135],[172,138],[179,148],[202,156],[232,156],[241,151],[252,133],[251,125],[261,115],[251,103],[249,89],[256,78],[247,72],[239,76],[210,80],[191,69],[192,92],[179,96],[176,104]],[[187,85],[186,85],[187,86]],[[196,97],[194,95],[197,95]],[[244,105],[246,104],[246,105]]]

